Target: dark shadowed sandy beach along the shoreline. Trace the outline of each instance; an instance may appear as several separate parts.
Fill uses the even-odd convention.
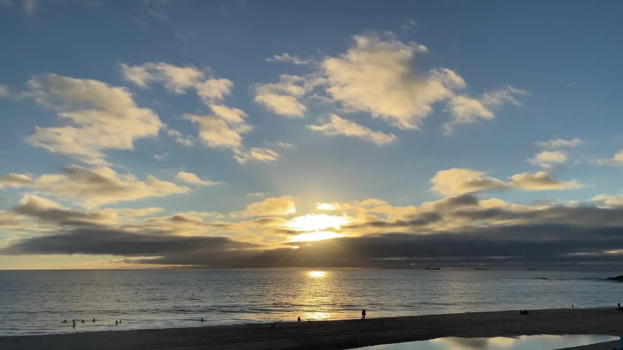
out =
[[[489,338],[534,334],[623,334],[623,312],[608,309],[534,310],[398,318],[241,324],[0,337],[0,349],[49,350],[340,350],[447,336]],[[616,343],[587,350],[611,349]]]

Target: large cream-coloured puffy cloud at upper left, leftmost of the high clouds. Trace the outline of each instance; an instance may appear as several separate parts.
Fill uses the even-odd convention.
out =
[[[163,123],[156,113],[136,106],[126,88],[97,80],[49,74],[29,82],[41,105],[54,109],[67,126],[36,127],[26,138],[32,146],[62,153],[91,165],[107,164],[106,149],[134,149],[134,141],[158,136]]]

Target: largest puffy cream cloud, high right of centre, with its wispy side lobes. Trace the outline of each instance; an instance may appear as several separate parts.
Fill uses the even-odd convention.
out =
[[[472,98],[460,93],[467,83],[453,70],[416,70],[417,57],[428,52],[424,45],[401,42],[391,33],[354,35],[353,42],[343,54],[316,62],[312,73],[281,75],[278,83],[256,85],[255,102],[279,115],[303,116],[315,97],[404,130],[419,130],[433,105],[445,102],[451,113],[444,126],[449,133],[457,124],[494,118],[496,108],[507,103],[520,105],[516,97],[527,93],[507,86]]]

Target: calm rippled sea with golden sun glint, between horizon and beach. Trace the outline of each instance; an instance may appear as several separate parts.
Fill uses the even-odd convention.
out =
[[[0,271],[0,335],[616,306],[612,273],[450,270]],[[199,319],[203,317],[204,323]],[[90,320],[97,321],[92,323]],[[75,329],[67,319],[78,319]],[[84,319],[85,323],[81,323]],[[123,323],[115,326],[115,320]]]

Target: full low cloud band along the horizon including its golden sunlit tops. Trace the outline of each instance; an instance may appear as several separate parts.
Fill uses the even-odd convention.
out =
[[[249,204],[247,211],[262,217],[239,223],[204,222],[201,216],[211,213],[183,212],[117,225],[115,214],[121,211],[78,212],[27,196],[11,211],[0,212],[0,225],[24,224],[12,216],[19,213],[29,222],[37,219],[40,225],[57,227],[43,235],[20,237],[0,248],[0,254],[117,255],[148,265],[211,268],[412,268],[431,263],[439,267],[616,268],[623,263],[623,255],[617,253],[623,249],[623,207],[523,205],[481,200],[473,194],[419,207],[391,207],[378,199],[336,203],[336,207],[354,206],[368,214],[343,225],[343,238],[297,242],[297,249],[290,243],[242,240],[240,233],[247,229],[253,233],[245,237],[257,237],[257,229],[272,232],[273,237],[298,233],[287,229],[287,221],[264,216],[292,214],[293,203],[288,203],[287,197],[278,197]],[[371,215],[381,212],[402,214]],[[215,235],[219,230],[237,232],[237,238]]]

